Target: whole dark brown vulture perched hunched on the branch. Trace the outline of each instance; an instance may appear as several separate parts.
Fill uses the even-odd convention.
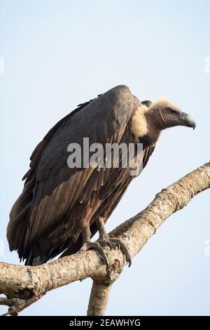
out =
[[[139,175],[153,154],[161,131],[173,126],[194,129],[195,120],[167,99],[141,102],[124,85],[78,105],[50,129],[31,154],[29,171],[22,178],[22,194],[10,211],[10,251],[18,251],[25,265],[40,265],[61,253],[60,257],[96,249],[107,263],[103,249],[107,244],[118,246],[130,263],[123,240],[107,234],[106,220],[136,177],[131,175],[132,161],[137,159]],[[108,154],[109,166],[101,166],[107,159],[106,152],[99,154],[94,166],[90,161],[85,166],[84,161],[82,166],[69,166],[71,144],[80,147],[83,160],[88,158],[84,138],[90,145],[103,147],[114,143],[140,144],[141,150],[134,148],[127,166],[123,166],[126,152],[122,150],[115,166],[112,149]],[[99,239],[92,242],[97,231]]]

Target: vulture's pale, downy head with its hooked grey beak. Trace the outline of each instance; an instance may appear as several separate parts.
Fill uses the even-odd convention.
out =
[[[187,126],[195,129],[195,120],[189,114],[181,111],[169,100],[152,103],[146,112],[146,119],[160,130],[173,126]],[[149,124],[149,123],[148,123]]]

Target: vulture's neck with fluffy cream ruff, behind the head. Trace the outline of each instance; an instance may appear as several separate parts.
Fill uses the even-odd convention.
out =
[[[143,143],[143,148],[154,145],[162,131],[161,124],[153,116],[153,112],[148,111],[148,107],[142,106],[134,112],[131,123],[131,131],[135,138]]]

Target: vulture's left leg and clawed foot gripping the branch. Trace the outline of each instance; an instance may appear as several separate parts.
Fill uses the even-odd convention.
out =
[[[83,246],[81,247],[80,251],[88,251],[90,249],[97,250],[99,252],[99,256],[101,257],[103,263],[105,263],[106,268],[108,268],[109,263],[106,258],[106,254],[104,253],[104,249],[98,242],[91,242],[90,240],[91,232],[90,232],[90,222],[85,221],[83,224]]]

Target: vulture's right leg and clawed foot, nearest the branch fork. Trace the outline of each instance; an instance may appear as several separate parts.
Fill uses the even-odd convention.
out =
[[[110,246],[110,248],[112,248],[112,246],[118,246],[120,250],[123,252],[123,254],[125,254],[125,259],[128,263],[128,266],[130,267],[130,265],[132,264],[132,259],[127,249],[127,246],[124,244],[122,239],[109,237],[109,235],[106,232],[104,218],[102,218],[101,216],[99,216],[99,218],[97,219],[97,228],[99,230],[99,243],[102,246],[104,244],[107,244]]]

